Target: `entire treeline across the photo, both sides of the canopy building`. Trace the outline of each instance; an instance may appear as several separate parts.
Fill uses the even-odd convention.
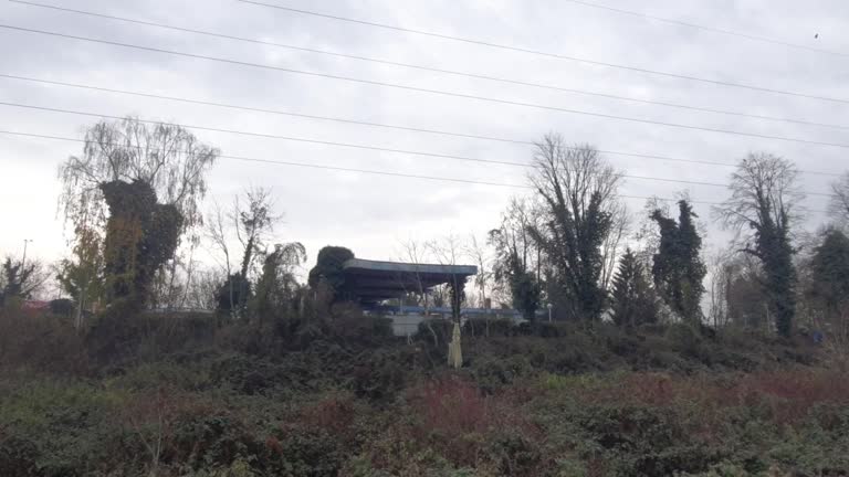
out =
[[[60,169],[70,256],[52,266],[8,258],[3,300],[27,299],[52,276],[83,327],[106,308],[216,309],[262,322],[302,312],[307,299],[350,298],[338,269],[354,255],[344,247],[322,251],[308,283],[298,283],[307,251],[276,240],[282,215],[270,190],[248,189],[202,212],[219,153],[175,125],[127,118],[91,127],[82,153]],[[534,192],[512,199],[485,239],[411,240],[399,258],[471,262],[480,273],[460,298],[514,307],[528,320],[736,325],[784,337],[807,329],[846,340],[849,176],[834,184],[834,223],[816,235],[803,229],[798,177],[792,162],[752,153],[711,218],[698,216],[685,192],[635,213],[620,197],[622,171],[590,146],[548,135],[534,151]],[[729,253],[706,257],[708,220],[735,232]],[[444,306],[449,292],[411,289],[405,299]]]

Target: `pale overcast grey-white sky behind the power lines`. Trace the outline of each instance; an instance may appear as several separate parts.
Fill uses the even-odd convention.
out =
[[[41,1],[41,0],[39,0]],[[544,57],[433,36],[342,22],[237,0],[43,0],[45,3],[176,26],[252,38],[442,70],[499,76],[610,95],[849,126],[849,104]],[[564,0],[264,0],[371,22],[579,56],[765,88],[849,99],[849,56],[825,54],[671,25]],[[594,0],[595,1],[595,0]],[[845,0],[605,0],[653,15],[849,53]],[[847,129],[693,112],[531,86],[339,59],[128,24],[0,1],[0,23],[91,36],[285,68],[486,96],[607,115],[767,136],[849,144]],[[819,35],[815,39],[815,35]],[[548,131],[602,150],[735,162],[750,151],[774,152],[800,169],[842,172],[846,148],[688,130],[497,104],[432,93],[315,77],[0,29],[0,74],[129,89],[292,113],[534,141]],[[492,160],[530,161],[532,147],[346,125],[281,115],[188,105],[0,78],[0,102],[285,135],[326,141],[428,151]],[[0,129],[82,138],[97,120],[0,106]],[[524,184],[526,170],[394,152],[196,130],[224,155]],[[0,253],[48,259],[65,252],[56,216],[57,166],[81,145],[0,134]],[[731,168],[608,156],[633,176],[726,182]],[[804,174],[804,188],[827,192],[827,176]],[[345,245],[365,258],[394,258],[399,241],[449,233],[483,236],[521,189],[380,177],[221,159],[210,195],[228,202],[247,186],[273,188],[286,223],[281,241],[301,241],[311,262],[324,245]],[[672,197],[689,189],[696,201],[721,201],[724,189],[628,179],[621,192]],[[628,200],[639,212],[640,200]],[[827,198],[806,204],[824,210]],[[710,219],[709,205],[696,212]],[[810,224],[825,221],[811,212]],[[811,225],[813,226],[813,225]],[[715,225],[713,243],[723,237]],[[722,239],[724,240],[724,239]]]

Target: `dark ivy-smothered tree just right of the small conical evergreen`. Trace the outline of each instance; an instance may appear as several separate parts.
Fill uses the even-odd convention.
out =
[[[651,273],[663,301],[684,321],[696,326],[702,318],[702,282],[708,267],[701,258],[702,237],[693,221],[696,215],[686,200],[679,201],[678,208],[678,222],[660,210],[651,215],[660,229]]]

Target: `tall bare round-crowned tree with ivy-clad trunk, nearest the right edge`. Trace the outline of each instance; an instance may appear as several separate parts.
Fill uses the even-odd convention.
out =
[[[792,241],[804,199],[798,174],[786,159],[751,153],[731,176],[731,198],[714,208],[716,218],[737,231],[742,252],[762,263],[768,310],[785,337],[793,329],[796,305]]]

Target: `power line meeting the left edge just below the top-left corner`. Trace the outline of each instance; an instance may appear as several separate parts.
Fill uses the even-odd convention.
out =
[[[239,0],[244,1],[244,0]],[[501,98],[493,98],[493,97],[486,97],[486,96],[478,96],[478,95],[471,95],[471,94],[463,94],[463,93],[454,93],[454,92],[447,92],[442,89],[430,89],[430,88],[421,88],[416,86],[407,86],[407,85],[399,85],[395,83],[386,83],[386,82],[378,82],[373,80],[361,80],[361,78],[354,78],[349,76],[340,76],[340,75],[332,75],[327,73],[316,73],[316,72],[308,72],[303,70],[294,70],[294,68],[285,68],[281,66],[272,66],[268,64],[261,64],[261,63],[250,63],[250,62],[243,62],[239,60],[228,60],[228,59],[221,59],[216,56],[207,56],[207,55],[200,55],[195,53],[185,53],[185,52],[177,52],[172,50],[164,50],[164,49],[157,49],[153,46],[142,46],[142,45],[135,45],[129,43],[120,43],[120,42],[113,42],[108,40],[98,40],[98,39],[91,39],[85,36],[77,36],[77,35],[71,35],[65,33],[56,33],[56,32],[49,32],[43,30],[35,30],[35,29],[28,29],[23,26],[13,26],[13,25],[7,25],[7,24],[0,24],[0,28],[9,29],[9,30],[17,30],[17,31],[23,31],[29,33],[39,33],[39,34],[46,34],[51,36],[59,36],[59,38],[65,38],[65,39],[72,39],[72,40],[80,40],[80,41],[86,41],[86,42],[93,42],[93,43],[103,43],[114,46],[122,46],[122,47],[129,47],[129,49],[136,49],[136,50],[144,50],[144,51],[150,51],[150,52],[157,52],[157,53],[166,53],[166,54],[172,54],[172,55],[179,55],[179,56],[186,56],[186,57],[192,57],[192,59],[199,59],[199,60],[208,60],[208,61],[214,61],[214,62],[221,62],[221,63],[228,63],[228,64],[235,64],[235,65],[242,65],[242,66],[251,66],[251,67],[259,67],[264,70],[273,70],[273,71],[281,71],[286,73],[296,73],[307,76],[316,76],[316,77],[325,77],[325,78],[332,78],[332,80],[340,80],[340,81],[348,81],[354,83],[361,83],[361,84],[369,84],[375,86],[384,86],[384,87],[391,87],[391,88],[398,88],[398,89],[406,89],[406,91],[415,91],[420,93],[430,93],[430,94],[438,94],[443,96],[451,96],[451,97],[461,97],[467,99],[476,99],[476,100],[483,100],[483,102],[490,102],[490,103],[499,103],[499,104],[506,104],[512,106],[522,106],[522,107],[531,107],[536,109],[545,109],[545,110],[554,110],[554,112],[560,112],[560,113],[568,113],[568,114],[576,114],[576,115],[584,115],[584,116],[591,116],[591,117],[599,117],[605,119],[615,119],[615,120],[621,120],[627,123],[641,123],[641,124],[649,124],[654,126],[665,126],[665,127],[673,127],[673,128],[681,128],[681,129],[692,129],[692,130],[701,130],[706,132],[717,132],[717,134],[727,134],[727,135],[734,135],[734,136],[745,136],[745,137],[755,137],[759,139],[774,139],[774,140],[780,140],[780,141],[787,141],[787,142],[799,142],[799,144],[808,144],[808,145],[817,145],[817,146],[829,146],[829,147],[838,147],[838,148],[849,148],[849,145],[845,144],[836,144],[836,142],[825,142],[825,141],[816,141],[816,140],[808,140],[808,139],[801,139],[801,138],[790,138],[785,136],[771,136],[771,135],[761,135],[756,132],[743,132],[743,131],[736,131],[736,130],[730,130],[730,129],[719,129],[719,128],[710,128],[710,127],[703,127],[703,126],[691,126],[691,125],[682,125],[678,123],[667,123],[667,121],[658,121],[658,120],[651,120],[651,119],[640,119],[640,118],[632,118],[627,116],[617,116],[617,115],[608,115],[602,113],[593,113],[593,112],[585,112],[579,109],[569,109],[569,108],[562,108],[562,107],[555,107],[555,106],[546,106],[546,105],[539,105],[534,103],[524,103],[524,102],[515,102],[510,99],[501,99]]]

